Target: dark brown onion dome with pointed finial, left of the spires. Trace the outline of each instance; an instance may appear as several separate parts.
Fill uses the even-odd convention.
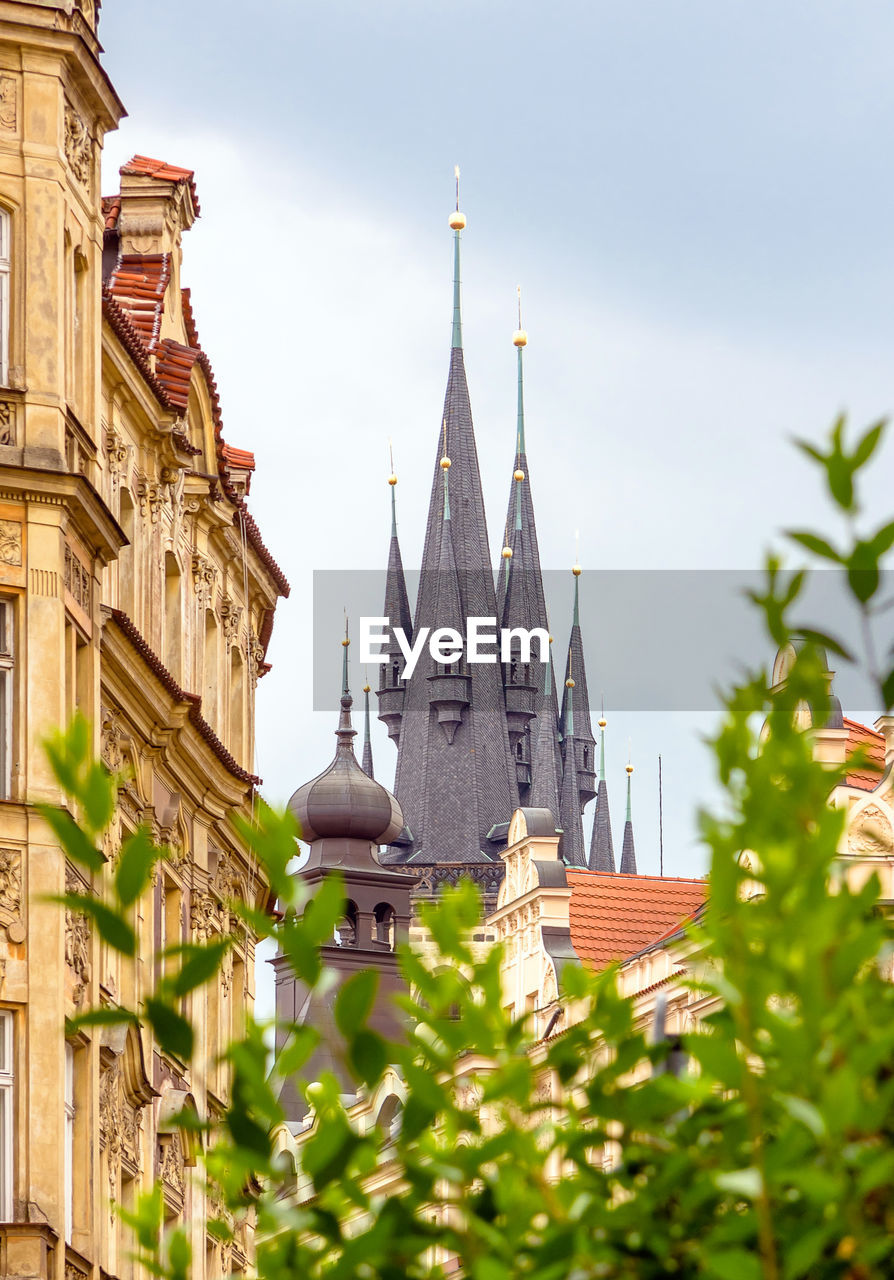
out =
[[[403,831],[403,814],[391,791],[368,777],[354,754],[355,728],[351,724],[354,699],[347,687],[347,648],[345,684],[338,717],[336,758],[328,769],[305,782],[288,801],[298,822],[302,840],[365,840],[389,845]]]

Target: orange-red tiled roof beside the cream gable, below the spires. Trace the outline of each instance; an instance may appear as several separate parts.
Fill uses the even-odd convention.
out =
[[[566,872],[571,887],[571,942],[581,960],[602,968],[669,937],[697,911],[707,881],[670,876]]]

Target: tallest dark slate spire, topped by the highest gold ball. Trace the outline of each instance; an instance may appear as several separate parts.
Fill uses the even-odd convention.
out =
[[[453,344],[438,433],[438,457],[450,461],[450,486],[446,489],[443,483],[446,468],[442,470],[435,461],[415,635],[421,627],[448,625],[439,616],[444,607],[439,579],[443,576],[441,566],[451,558],[453,572],[448,571],[446,576],[456,584],[462,622],[469,617],[497,617],[484,497],[460,346],[459,253],[464,215],[459,210],[451,214],[450,224],[456,237]],[[447,502],[450,520],[444,520]],[[492,841],[489,832],[507,823],[519,805],[501,666],[474,663],[467,675],[447,673],[443,667],[443,663],[435,664],[427,644],[412,677],[406,682],[394,791],[409,831],[393,847],[392,856],[419,867],[443,861],[500,863],[498,849],[505,841]],[[434,696],[444,691],[443,680],[451,680],[457,695],[467,694],[467,704],[461,707],[459,721],[441,718],[444,714],[441,708],[438,716],[432,714],[435,703],[457,700]],[[446,728],[448,723],[455,726],[452,741]]]

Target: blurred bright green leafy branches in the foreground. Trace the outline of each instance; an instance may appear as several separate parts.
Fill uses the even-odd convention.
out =
[[[848,448],[839,421],[826,452],[804,445],[848,540],[792,536],[845,572],[867,622],[861,660],[888,710],[893,654],[877,655],[871,623],[894,522],[858,527],[861,470],[881,436],[877,425]],[[280,1028],[286,1046],[270,1065],[264,1028],[248,1019],[227,1050],[231,1100],[206,1134],[202,1175],[227,1211],[209,1230],[225,1240],[248,1215],[260,1276],[403,1280],[446,1275],[455,1260],[474,1280],[894,1274],[891,928],[877,881],[852,890],[836,867],[845,814],[829,795],[845,769],[815,762],[812,736],[798,727],[804,707],[816,724],[829,712],[818,644],[843,654],[821,628],[795,626],[803,582],[768,561],[753,596],[768,640],[807,639],[781,687],[757,672],[727,694],[710,742],[724,804],[699,818],[710,900],[689,928],[687,982],[713,1011],[681,1043],[654,1041],[619,995],[614,968],[567,966],[562,1000],[583,1016],[538,1043],[528,1020],[503,1010],[500,950],[480,959],[467,942],[480,915],[474,890],[446,893],[424,909],[446,966],[433,973],[409,950],[401,956],[414,992],[405,1043],[386,1044],[368,1027],[374,975],[347,980],[336,1002],[357,1087],[369,1093],[388,1064],[405,1082],[401,1123],[388,1135],[359,1130],[333,1076],[305,1082],[315,1123],[296,1175],[273,1135],[284,1119],[282,1082],[301,1079],[316,1032]],[[159,851],[138,832],[110,874],[97,840],[117,780],[91,762],[79,722],[50,755],[70,803],[46,818],[97,884],[91,900],[69,905],[91,915],[109,947],[133,955],[129,909]],[[288,872],[288,815],[261,809],[243,835],[280,910],[277,919],[251,904],[233,910],[277,940],[302,983],[327,982],[320,945],[342,914],[341,884],[330,878],[307,899]],[[177,948],[141,1009],[79,1021],[145,1020],[163,1050],[188,1059],[182,997],[214,978],[225,945]],[[391,1194],[371,1176],[383,1162]],[[186,1280],[187,1239],[165,1231],[158,1189],[124,1217],[152,1272]]]

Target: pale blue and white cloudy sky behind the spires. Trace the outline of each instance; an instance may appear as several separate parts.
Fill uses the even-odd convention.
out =
[[[635,608],[584,602],[588,649],[614,641],[588,681],[606,700],[616,845],[629,751],[639,868],[658,872],[661,755],[665,870],[702,874],[712,700],[658,692],[643,705],[605,654],[643,628],[658,685],[679,687],[680,645],[689,660],[698,650],[708,686],[727,678],[735,646],[707,622],[675,622],[707,618],[710,591],[689,604],[681,588],[666,608],[651,575],[751,571],[781,529],[834,531],[792,439],[820,439],[843,410],[854,428],[890,412],[894,9],[154,0],[149,20],[145,5],[105,0],[100,37],[129,111],[105,143],[104,191],[134,152],[196,172],[183,283],[224,435],[256,456],[250,508],[292,584],[257,694],[265,796],[284,803],[332,756],[334,714],[313,700],[313,575],[384,567],[389,439],[403,559],[419,563],[460,164],[465,357],[494,563],[521,284],[529,475],[560,648],[575,556],[584,590],[598,582],[589,571],[649,571],[633,580]],[[870,522],[890,508],[893,458],[888,440]],[[835,609],[821,621],[844,625]],[[332,705],[338,639],[323,677]],[[388,783],[394,751],[378,723],[374,751]]]

